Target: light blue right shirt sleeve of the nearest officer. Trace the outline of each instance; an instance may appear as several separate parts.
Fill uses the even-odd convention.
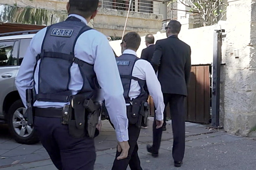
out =
[[[119,142],[128,141],[128,119],[124,100],[124,89],[116,65],[116,59],[107,38],[94,42],[94,71],[103,90],[105,106],[116,130]]]

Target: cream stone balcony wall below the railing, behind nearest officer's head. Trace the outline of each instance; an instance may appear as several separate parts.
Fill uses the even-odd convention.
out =
[[[0,4],[10,6],[42,8],[53,11],[66,11],[68,0],[1,0]],[[98,15],[91,20],[90,26],[105,35],[121,37],[124,30],[127,11],[99,8]],[[136,31],[141,36],[157,33],[162,28],[163,15],[130,12],[127,31]]]

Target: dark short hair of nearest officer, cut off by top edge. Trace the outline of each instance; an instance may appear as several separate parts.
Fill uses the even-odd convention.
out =
[[[69,0],[70,12],[79,12],[83,17],[90,17],[97,10],[99,0]]]

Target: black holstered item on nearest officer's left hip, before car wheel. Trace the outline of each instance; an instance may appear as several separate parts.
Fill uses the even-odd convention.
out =
[[[33,89],[26,89],[26,105],[27,110],[24,114],[24,117],[27,118],[28,125],[34,124],[34,97],[33,97]]]

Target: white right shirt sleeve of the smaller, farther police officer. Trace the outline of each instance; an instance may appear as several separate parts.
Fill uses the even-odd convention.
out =
[[[163,115],[163,112],[165,109],[164,98],[163,98],[160,82],[158,81],[157,76],[154,72],[154,69],[150,63],[147,63],[145,65],[145,75],[146,75],[148,92],[152,96],[155,107],[156,107],[156,119],[161,121],[164,119],[164,115]]]

